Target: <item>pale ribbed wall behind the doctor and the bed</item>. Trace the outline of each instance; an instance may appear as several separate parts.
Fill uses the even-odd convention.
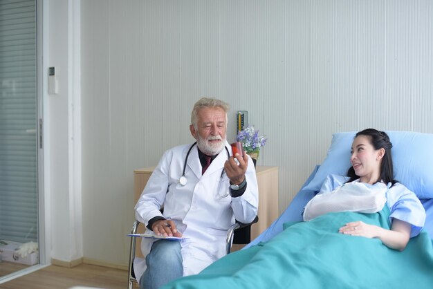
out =
[[[132,171],[192,142],[199,97],[230,102],[229,140],[238,110],[266,134],[280,212],[333,132],[433,133],[432,16],[428,0],[83,1],[84,257],[127,263]]]

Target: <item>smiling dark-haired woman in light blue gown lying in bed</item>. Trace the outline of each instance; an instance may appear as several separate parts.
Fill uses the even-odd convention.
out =
[[[383,131],[365,129],[356,133],[351,147],[352,166],[347,173],[349,176],[347,183],[360,182],[376,189],[387,185],[385,200],[391,211],[389,216],[391,230],[356,221],[347,223],[340,228],[339,232],[378,238],[389,248],[403,250],[409,238],[421,231],[425,221],[425,210],[413,192],[393,180],[391,147],[389,137]],[[340,189],[335,186],[347,179],[348,177],[329,176],[315,198],[320,198],[330,189],[335,192],[335,189]],[[310,203],[313,203],[315,198]]]

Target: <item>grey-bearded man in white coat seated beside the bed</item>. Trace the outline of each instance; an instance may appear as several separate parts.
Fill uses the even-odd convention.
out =
[[[199,273],[224,256],[227,230],[235,218],[250,223],[257,215],[252,160],[246,153],[232,156],[225,140],[228,109],[213,98],[196,102],[190,125],[196,142],[165,151],[138,199],[136,219],[147,231],[183,237],[142,239],[146,268],[140,288],[159,288]]]

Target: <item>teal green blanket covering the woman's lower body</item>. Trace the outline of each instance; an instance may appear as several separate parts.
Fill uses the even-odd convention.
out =
[[[403,252],[378,239],[338,233],[351,221],[389,228],[388,216],[386,208],[285,224],[270,241],[233,252],[200,274],[163,288],[433,288],[433,246],[427,232],[412,238]]]

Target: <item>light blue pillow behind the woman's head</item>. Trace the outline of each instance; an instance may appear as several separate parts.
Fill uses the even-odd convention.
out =
[[[433,134],[386,131],[392,147],[394,179],[418,198],[433,198]],[[334,133],[326,159],[304,190],[319,192],[329,174],[345,176],[351,166],[350,151],[356,131]]]

